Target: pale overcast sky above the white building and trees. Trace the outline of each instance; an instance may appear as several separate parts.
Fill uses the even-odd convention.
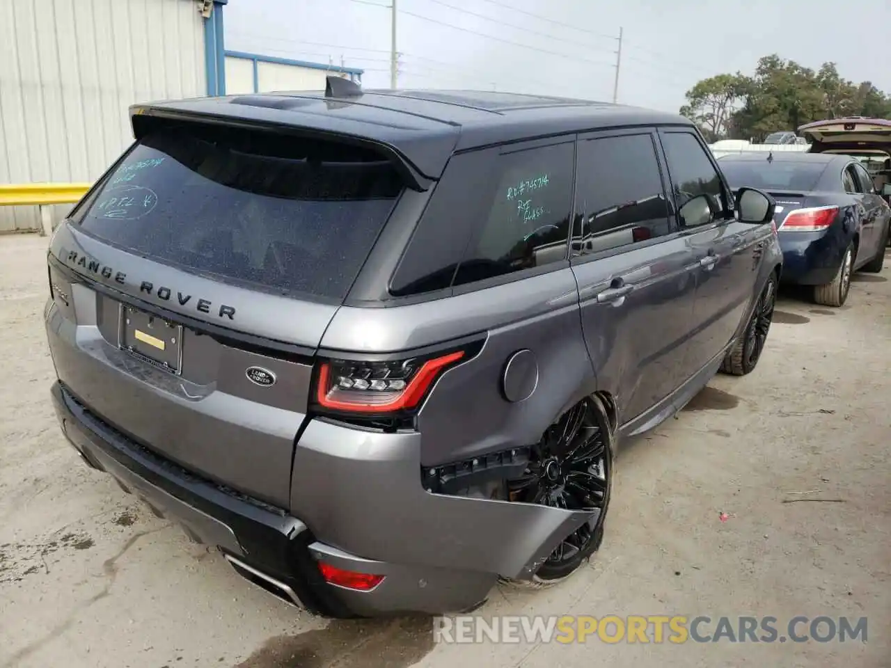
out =
[[[225,47],[364,69],[389,87],[390,0],[230,0]],[[891,94],[891,0],[396,0],[400,88],[463,88],[677,111],[700,79],[761,56]],[[841,11],[839,11],[841,10]],[[816,17],[816,18],[810,18]]]

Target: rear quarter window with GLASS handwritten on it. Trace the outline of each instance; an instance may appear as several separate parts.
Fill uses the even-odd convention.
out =
[[[454,285],[566,259],[572,196],[573,143],[499,156],[479,227]],[[479,187],[468,183],[468,188]],[[466,215],[461,201],[455,215]]]

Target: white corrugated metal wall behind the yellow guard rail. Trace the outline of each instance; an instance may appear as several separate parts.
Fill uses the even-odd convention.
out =
[[[206,94],[204,61],[195,0],[0,0],[0,183],[94,181],[127,106]],[[0,207],[0,232],[39,224]]]

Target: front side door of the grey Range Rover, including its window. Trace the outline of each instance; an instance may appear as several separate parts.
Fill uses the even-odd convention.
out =
[[[662,129],[659,138],[678,223],[697,267],[687,366],[699,371],[731,341],[751,302],[763,230],[732,215],[731,193],[698,134]],[[714,210],[696,207],[688,215],[687,205],[703,195]]]

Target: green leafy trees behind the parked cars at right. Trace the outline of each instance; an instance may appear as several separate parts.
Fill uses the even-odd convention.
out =
[[[703,79],[687,92],[681,113],[696,121],[709,141],[763,140],[823,118],[891,118],[891,97],[869,81],[858,86],[841,77],[834,62],[814,71],[774,53],[758,61],[753,77],[737,72]]]

